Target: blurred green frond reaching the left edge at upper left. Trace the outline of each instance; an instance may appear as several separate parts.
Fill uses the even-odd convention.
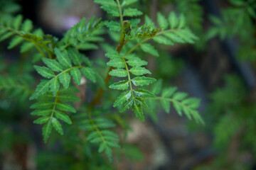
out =
[[[54,40],[44,35],[41,29],[33,31],[32,21],[28,19],[23,21],[21,15],[0,17],[0,42],[11,37],[13,38],[9,43],[9,49],[21,45],[21,52],[27,52],[32,47],[36,47],[43,57],[46,57],[44,52],[48,53],[48,57],[51,57],[53,53],[53,50],[48,45],[53,43]]]

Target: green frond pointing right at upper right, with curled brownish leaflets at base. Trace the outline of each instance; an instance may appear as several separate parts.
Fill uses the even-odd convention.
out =
[[[146,43],[153,39],[161,45],[174,45],[174,43],[194,43],[198,40],[191,30],[186,26],[186,18],[181,14],[176,16],[174,12],[169,13],[169,17],[165,18],[161,13],[157,13],[157,22],[159,28],[156,28],[154,22],[148,16],[145,16],[144,26],[139,28],[132,28],[129,33],[126,33],[126,40],[134,40],[137,38],[143,38],[143,40],[137,40],[129,42],[129,50],[127,54],[132,53],[137,47],[140,47],[142,51],[159,57],[159,52],[153,45]],[[111,28],[111,27],[110,27]]]

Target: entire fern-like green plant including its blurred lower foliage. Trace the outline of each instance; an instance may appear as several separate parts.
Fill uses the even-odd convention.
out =
[[[178,92],[175,88],[163,89],[161,92],[161,81],[156,82],[153,77],[147,77],[151,71],[147,69],[146,57],[141,58],[144,52],[161,58],[161,52],[149,42],[150,40],[160,45],[193,43],[197,40],[196,35],[186,26],[185,16],[177,16],[171,12],[166,18],[157,13],[157,27],[148,16],[144,16],[145,23],[142,25],[139,18],[132,18],[143,15],[142,11],[133,7],[137,0],[95,0],[95,3],[100,4],[110,15],[119,17],[120,21],[82,18],[60,40],[45,35],[41,29],[33,30],[32,22],[23,21],[21,15],[12,16],[12,12],[9,12],[0,16],[0,41],[12,38],[9,49],[21,45],[23,55],[33,56],[32,60],[37,64],[31,63],[31,57],[23,60],[31,67],[33,65],[34,71],[40,75],[35,81],[28,81],[23,77],[14,79],[8,77],[9,72],[0,65],[1,72],[4,70],[4,76],[0,77],[0,91],[3,91],[5,96],[23,98],[24,101],[28,101],[30,96],[29,99],[33,102],[31,108],[34,110],[31,115],[37,117],[33,123],[43,125],[44,142],[47,142],[49,137],[50,142],[62,139],[63,145],[60,147],[65,149],[65,153],[53,157],[60,162],[63,159],[75,162],[70,158],[75,152],[75,157],[82,162],[74,166],[66,166],[65,162],[65,168],[49,164],[50,169],[110,169],[109,163],[103,161],[104,157],[92,152],[95,147],[98,152],[105,152],[110,162],[116,150],[114,148],[124,149],[127,157],[138,154],[137,158],[141,158],[142,155],[137,149],[119,142],[119,134],[112,128],[118,123],[124,131],[128,130],[125,121],[127,114],[123,112],[129,108],[137,118],[144,121],[144,111],[154,108],[155,100],[160,101],[167,113],[172,103],[179,115],[184,113],[189,119],[203,123],[196,111],[199,106],[198,99],[187,98],[187,94]],[[124,18],[129,20],[124,21]],[[109,30],[106,31],[102,26]],[[101,46],[106,50],[105,57],[109,61],[89,59],[81,51],[96,50],[97,42],[104,40],[103,33],[109,33],[111,38],[118,42],[116,50],[113,45],[104,43]],[[22,70],[20,67],[19,69]],[[25,74],[23,72],[21,74]],[[26,70],[26,74],[33,75],[31,72],[31,69]],[[104,80],[102,75],[105,73],[107,76]],[[79,90],[75,90],[74,86]],[[85,94],[85,89],[90,89],[90,93],[80,101],[75,94]],[[160,92],[161,96],[156,96]],[[57,133],[53,132],[53,129]],[[95,157],[100,161],[94,164],[92,161]],[[102,162],[105,163],[104,166]]]

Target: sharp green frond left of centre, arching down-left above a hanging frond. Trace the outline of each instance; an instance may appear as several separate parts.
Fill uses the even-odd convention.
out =
[[[53,96],[55,96],[60,88],[60,84],[63,85],[64,89],[68,89],[71,80],[70,74],[78,85],[80,85],[81,81],[81,72],[87,79],[90,79],[92,82],[96,81],[93,69],[82,66],[82,58],[85,56],[73,49],[61,51],[55,48],[54,51],[58,61],[43,58],[43,62],[47,67],[34,66],[36,72],[46,79],[41,80],[41,83],[38,84],[36,91],[30,97],[31,100],[46,94],[49,89],[52,91]],[[73,64],[76,66],[73,66]]]

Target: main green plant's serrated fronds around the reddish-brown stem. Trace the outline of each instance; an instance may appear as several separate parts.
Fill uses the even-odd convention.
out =
[[[119,137],[110,130],[115,125],[110,118],[95,114],[97,113],[95,106],[100,103],[100,99],[97,97],[100,95],[95,95],[96,99],[92,99],[91,103],[87,104],[86,102],[86,114],[72,115],[72,117],[69,115],[69,113],[77,112],[72,103],[80,101],[80,98],[75,96],[77,91],[73,89],[73,85],[79,86],[81,84],[82,74],[85,79],[90,79],[93,83],[97,82],[102,86],[99,94],[106,90],[104,86],[108,84],[110,77],[121,78],[122,80],[109,86],[110,89],[122,91],[115,98],[113,104],[114,108],[119,108],[121,113],[128,108],[132,108],[137,118],[145,120],[143,108],[154,106],[153,100],[160,100],[167,113],[169,113],[171,103],[173,103],[179,115],[184,113],[188,118],[203,123],[196,111],[199,105],[197,99],[187,98],[187,94],[177,92],[176,88],[164,89],[161,96],[156,96],[161,89],[159,83],[153,86],[151,92],[146,90],[146,86],[156,82],[156,79],[144,76],[145,74],[151,74],[145,68],[147,62],[133,53],[137,48],[140,48],[142,52],[159,57],[156,48],[150,43],[145,43],[149,40],[164,45],[174,45],[175,42],[193,43],[197,40],[197,37],[186,26],[185,16],[182,14],[177,16],[176,13],[171,12],[168,19],[166,19],[161,13],[157,13],[158,28],[148,16],[145,16],[144,25],[139,26],[140,19],[131,17],[142,16],[143,13],[137,8],[129,7],[137,0],[124,0],[121,3],[118,0],[95,0],[95,2],[101,4],[101,8],[110,15],[119,17],[120,22],[102,22],[101,19],[95,20],[95,18],[86,22],[85,18],[82,18],[79,23],[65,33],[61,40],[51,35],[45,35],[41,29],[33,30],[32,22],[29,20],[23,21],[22,16],[0,17],[0,41],[14,36],[9,44],[9,49],[21,44],[21,52],[28,52],[36,47],[37,55],[41,55],[36,61],[42,61],[44,66],[40,66],[41,63],[39,63],[34,66],[34,69],[43,79],[36,86],[36,90],[29,99],[36,100],[31,106],[32,109],[35,109],[31,115],[38,117],[33,123],[43,125],[43,140],[47,142],[53,128],[60,135],[63,135],[63,125],[65,124],[62,124],[62,121],[68,125],[74,122],[75,130],[73,130],[73,133],[78,136],[76,140],[78,138],[80,140],[84,139],[84,137],[80,137],[80,132],[85,134],[85,143],[90,142],[92,146],[99,146],[98,151],[105,152],[108,159],[112,160],[112,149],[113,147],[119,148]],[[124,17],[130,18],[129,21],[124,21]],[[96,72],[97,69],[93,68],[95,65],[80,52],[80,50],[97,49],[94,42],[102,42],[101,35],[104,33],[102,26],[107,26],[110,31],[120,33],[120,35],[117,35],[117,50],[107,48],[105,56],[110,61],[101,65],[102,67],[110,67],[105,82],[102,81],[100,74]],[[114,34],[112,35],[114,37]],[[73,85],[70,85],[71,78],[74,81]],[[28,93],[18,89],[18,83],[23,84],[23,81],[6,79],[1,82],[0,90],[15,89],[15,91],[9,91],[15,95],[24,93],[26,97],[31,94],[31,91]],[[10,86],[10,84],[15,87]],[[4,88],[1,89],[1,86]],[[95,92],[94,90],[97,88],[92,87],[91,89]],[[105,104],[108,102],[108,98],[104,99]],[[119,120],[122,120],[122,118],[119,118]]]

